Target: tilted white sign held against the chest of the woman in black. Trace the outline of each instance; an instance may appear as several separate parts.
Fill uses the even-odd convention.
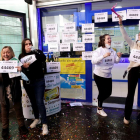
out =
[[[24,63],[29,63],[29,64],[32,64],[33,62],[36,61],[36,57],[35,55],[27,55],[23,58],[20,59],[21,63],[24,64]]]

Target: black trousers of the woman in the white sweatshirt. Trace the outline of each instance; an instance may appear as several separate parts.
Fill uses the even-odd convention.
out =
[[[99,91],[98,107],[102,107],[103,101],[112,93],[112,78],[104,78],[94,74],[94,80]]]

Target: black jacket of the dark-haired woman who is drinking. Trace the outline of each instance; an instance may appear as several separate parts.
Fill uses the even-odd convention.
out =
[[[30,53],[26,53],[27,55],[35,54],[36,61],[30,64],[29,68],[22,67],[23,73],[28,77],[30,81],[34,81],[37,79],[41,79],[44,77],[42,63],[46,61],[46,56],[40,50],[31,51]],[[22,58],[22,55],[19,55],[19,60]]]

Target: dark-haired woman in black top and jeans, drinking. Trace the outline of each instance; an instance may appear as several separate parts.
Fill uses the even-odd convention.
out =
[[[19,56],[19,59],[35,55],[36,61],[29,64],[24,63],[22,66],[23,72],[29,79],[29,82],[23,81],[23,86],[29,96],[30,102],[32,104],[35,120],[30,125],[30,128],[36,127],[40,123],[39,113],[41,115],[41,121],[43,124],[42,134],[48,134],[47,118],[46,118],[46,109],[44,105],[44,92],[45,92],[45,80],[44,73],[42,70],[42,62],[46,61],[46,56],[40,50],[31,51],[32,41],[28,38],[22,41],[22,53]]]

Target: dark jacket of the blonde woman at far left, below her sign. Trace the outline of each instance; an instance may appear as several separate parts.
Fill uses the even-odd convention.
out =
[[[14,102],[20,102],[21,96],[22,96],[22,90],[21,90],[21,84],[20,84],[21,77],[14,77],[9,78],[8,73],[2,73],[0,74],[0,99],[1,102],[4,102],[7,104],[8,98],[6,95],[6,87],[10,85],[11,87],[11,94],[12,94],[12,101]]]

